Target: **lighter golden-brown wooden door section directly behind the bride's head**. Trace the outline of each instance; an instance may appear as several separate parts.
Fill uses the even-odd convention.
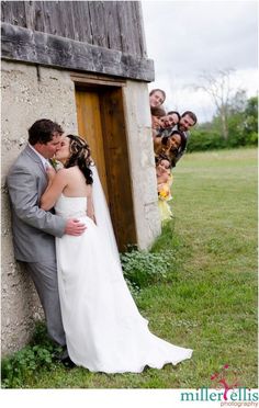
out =
[[[79,136],[83,137],[90,146],[106,201],[110,204],[99,94],[92,91],[76,90],[76,103]]]

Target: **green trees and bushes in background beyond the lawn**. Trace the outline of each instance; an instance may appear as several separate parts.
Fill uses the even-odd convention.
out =
[[[243,95],[244,97],[244,95]],[[205,151],[243,146],[256,146],[258,143],[258,98],[247,101],[234,100],[228,109],[228,138],[221,131],[221,118],[198,125],[188,143],[188,151]]]

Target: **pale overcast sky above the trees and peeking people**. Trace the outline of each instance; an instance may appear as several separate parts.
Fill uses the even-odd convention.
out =
[[[234,69],[233,87],[257,94],[257,1],[142,1],[148,58],[155,61],[149,89],[167,93],[165,107],[194,111],[210,121],[214,106],[190,87],[204,71]]]

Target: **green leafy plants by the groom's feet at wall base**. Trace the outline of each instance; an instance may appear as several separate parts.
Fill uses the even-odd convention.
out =
[[[21,388],[40,369],[50,369],[61,349],[47,337],[46,327],[38,322],[31,343],[1,362],[1,387]]]

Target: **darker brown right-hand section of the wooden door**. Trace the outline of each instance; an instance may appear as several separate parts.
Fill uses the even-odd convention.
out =
[[[126,245],[137,242],[122,89],[104,91],[100,106],[108,189],[112,199],[110,212],[115,219],[120,248],[125,250]]]

